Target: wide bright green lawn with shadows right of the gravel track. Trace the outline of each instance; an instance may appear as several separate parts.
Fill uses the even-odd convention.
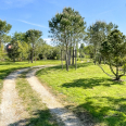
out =
[[[78,64],[70,72],[61,66],[37,72],[38,78],[49,87],[66,108],[84,122],[100,126],[126,126],[126,81],[114,81],[98,65]],[[108,73],[110,68],[103,65]]]

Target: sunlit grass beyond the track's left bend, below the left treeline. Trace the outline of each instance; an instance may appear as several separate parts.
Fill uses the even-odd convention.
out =
[[[49,65],[49,64],[60,64],[61,61],[58,60],[47,60],[47,61],[36,61],[36,63],[28,63],[28,62],[0,62],[0,103],[1,103],[1,90],[3,87],[3,79],[13,71],[23,68],[23,67],[30,67],[37,65]]]

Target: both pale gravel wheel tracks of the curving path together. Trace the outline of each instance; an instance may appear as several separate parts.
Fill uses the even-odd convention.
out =
[[[39,83],[35,73],[45,66],[35,66],[27,75],[27,80],[32,88],[36,90],[43,103],[47,104],[52,115],[56,116],[56,121],[64,126],[84,126],[79,118],[72,112],[68,112],[55,98]],[[0,126],[11,126],[15,122],[27,118],[28,113],[22,105],[22,101],[15,89],[15,78],[18,74],[26,72],[29,68],[24,68],[11,73],[3,81],[2,102],[0,104]],[[25,119],[20,126],[25,125]],[[17,126],[16,124],[14,126]],[[60,125],[61,126],[61,125]]]

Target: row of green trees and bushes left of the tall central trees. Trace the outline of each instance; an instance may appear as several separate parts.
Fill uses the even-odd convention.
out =
[[[7,34],[11,25],[0,21],[0,60],[25,61],[60,59],[60,48],[48,45],[42,38],[42,32],[29,29],[26,33]]]

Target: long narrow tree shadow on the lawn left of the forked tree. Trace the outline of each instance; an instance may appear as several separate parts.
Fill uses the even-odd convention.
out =
[[[114,81],[110,78],[99,78],[99,77],[81,78],[81,79],[74,79],[73,83],[65,83],[62,85],[62,87],[66,87],[66,88],[83,87],[84,89],[87,89],[87,88],[93,88],[96,86],[110,87],[111,85],[123,85],[123,81]]]

